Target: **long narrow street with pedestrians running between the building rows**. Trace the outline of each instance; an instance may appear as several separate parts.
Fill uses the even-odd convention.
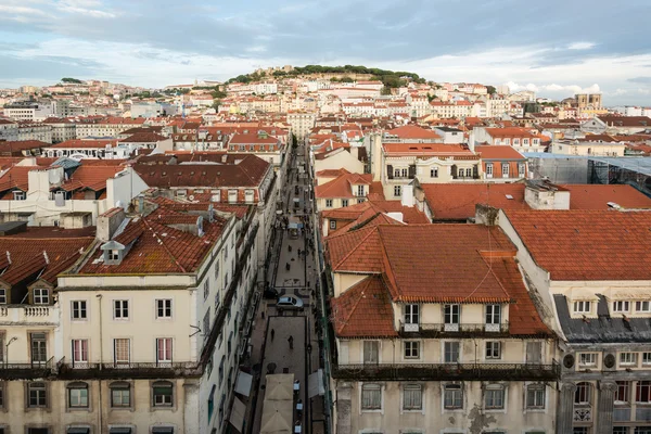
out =
[[[320,368],[314,320],[314,309],[318,304],[315,299],[315,279],[318,273],[311,250],[311,181],[307,174],[298,169],[306,161],[304,146],[298,146],[296,152],[294,161],[290,162],[286,183],[281,187],[282,206],[279,207],[281,212],[277,213],[277,233],[275,245],[270,248],[267,282],[279,297],[293,295],[303,301],[304,306],[301,309],[279,310],[273,298],[263,299],[259,304],[251,340],[253,349],[250,362],[255,379],[247,406],[247,433],[259,433],[261,430],[267,373],[293,373],[299,382],[299,391],[294,398],[292,432],[295,432],[294,425],[299,422],[302,433],[324,433],[322,396],[308,397],[308,375]],[[290,347],[290,337],[293,348]],[[296,410],[298,399],[303,403],[302,412]]]

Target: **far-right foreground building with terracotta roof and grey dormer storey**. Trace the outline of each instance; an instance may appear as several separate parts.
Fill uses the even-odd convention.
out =
[[[556,432],[650,432],[649,213],[507,210],[498,221],[562,336]]]

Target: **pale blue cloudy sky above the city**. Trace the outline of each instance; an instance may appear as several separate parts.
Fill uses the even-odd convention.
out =
[[[650,16],[651,0],[0,0],[0,88],[354,64],[651,106]]]

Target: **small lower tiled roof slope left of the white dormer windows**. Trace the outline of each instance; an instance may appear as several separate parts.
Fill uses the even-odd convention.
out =
[[[331,301],[337,336],[397,336],[388,294],[379,277],[369,277]]]

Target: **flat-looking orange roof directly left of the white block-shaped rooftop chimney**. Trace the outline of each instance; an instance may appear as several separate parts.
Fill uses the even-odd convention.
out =
[[[433,220],[465,220],[475,216],[475,205],[501,209],[529,209],[524,201],[525,184],[513,183],[423,183]],[[513,199],[509,199],[507,194]]]

